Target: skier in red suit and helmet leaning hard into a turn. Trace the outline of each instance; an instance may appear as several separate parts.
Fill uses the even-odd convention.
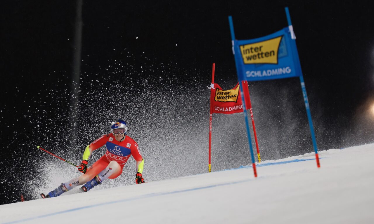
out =
[[[126,136],[126,122],[122,119],[113,121],[110,130],[111,133],[99,137],[86,147],[82,163],[78,166],[78,170],[83,172],[83,175],[62,183],[47,195],[42,193],[40,196],[42,198],[56,197],[82,184],[85,185],[80,188],[81,191],[87,192],[107,178],[117,178],[122,173],[123,166],[125,166],[131,155],[137,161],[135,183],[144,183],[144,178],[142,177],[144,159],[139,152],[138,144],[131,137]],[[88,159],[92,151],[104,146],[104,144],[107,147],[105,155],[87,168]]]

